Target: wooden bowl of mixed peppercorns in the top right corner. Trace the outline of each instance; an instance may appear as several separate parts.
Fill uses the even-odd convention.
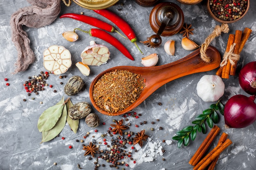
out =
[[[233,23],[243,18],[249,10],[249,0],[207,0],[207,10],[220,23]]]

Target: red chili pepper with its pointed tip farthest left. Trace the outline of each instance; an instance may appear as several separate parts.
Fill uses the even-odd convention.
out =
[[[103,22],[97,18],[93,18],[93,17],[87,16],[87,15],[81,15],[81,14],[77,14],[77,13],[65,13],[65,14],[61,15],[60,18],[72,18],[74,20],[78,20],[78,21],[84,22],[86,24],[90,24],[92,26],[103,29],[105,31],[108,31],[111,33],[116,32],[119,35],[121,35],[121,33],[119,33],[115,29],[114,26],[112,26],[106,22]],[[124,35],[121,35],[121,36],[124,37]],[[124,37],[124,38],[126,38],[126,37]]]

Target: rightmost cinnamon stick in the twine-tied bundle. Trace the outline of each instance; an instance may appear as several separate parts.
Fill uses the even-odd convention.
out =
[[[249,29],[249,28],[244,29],[241,40],[240,40],[239,49],[237,51],[237,54],[241,53],[241,51],[243,50],[243,47],[245,46],[245,43],[247,42],[249,36],[251,35],[251,33],[252,33],[251,29]],[[238,61],[235,61],[235,64],[231,66],[230,75],[235,75],[237,62]]]

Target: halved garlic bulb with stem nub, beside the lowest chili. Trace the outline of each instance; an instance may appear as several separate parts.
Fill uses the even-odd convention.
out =
[[[81,53],[81,58],[85,65],[100,66],[110,59],[110,52],[108,47],[91,41],[90,46],[87,46]]]

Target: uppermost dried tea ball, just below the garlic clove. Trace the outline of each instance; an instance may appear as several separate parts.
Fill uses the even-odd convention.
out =
[[[78,93],[84,86],[83,79],[77,75],[71,77],[64,87],[66,95],[72,96]]]

